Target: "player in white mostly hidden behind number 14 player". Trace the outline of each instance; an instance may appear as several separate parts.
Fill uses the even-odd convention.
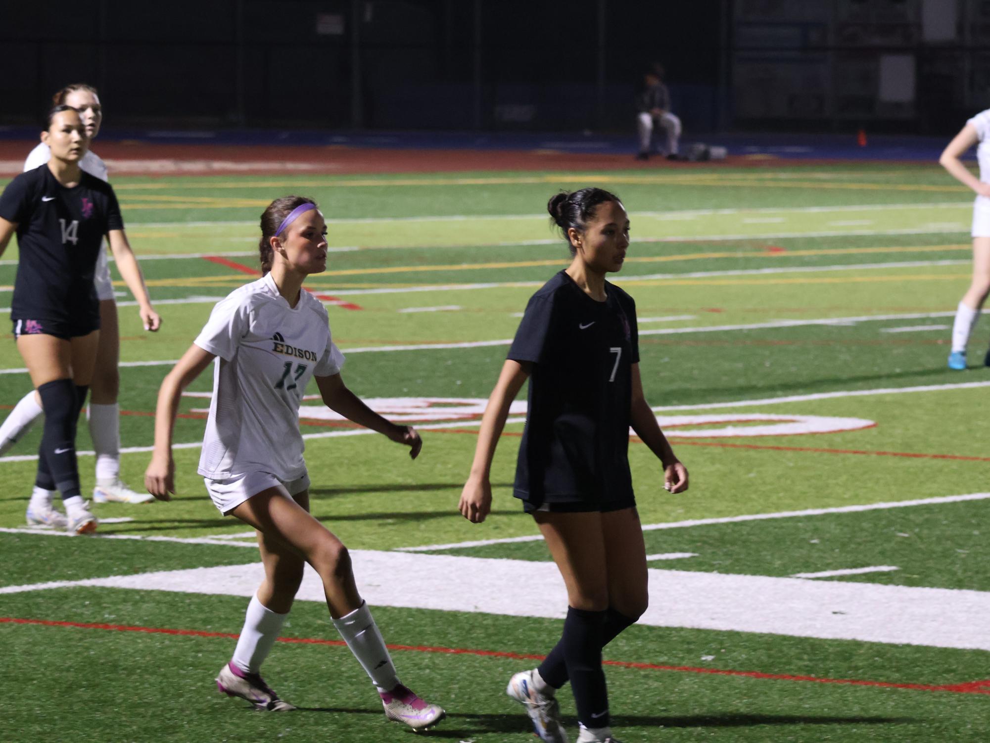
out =
[[[67,85],[52,96],[52,101],[56,106],[71,106],[79,112],[86,137],[90,141],[99,134],[103,122],[103,108],[95,88],[85,83]],[[24,163],[25,172],[44,165],[50,158],[49,145],[41,142],[28,155]],[[86,151],[79,161],[79,167],[102,181],[109,181],[106,163],[92,150]],[[89,432],[96,451],[96,487],[93,489],[93,500],[96,503],[148,503],[153,499],[147,493],[131,490],[120,479],[120,407],[117,403],[120,388],[120,373],[117,370],[117,362],[120,358],[120,330],[117,302],[114,299],[114,287],[107,260],[106,240],[100,246],[93,283],[100,303],[100,340],[87,411]],[[148,308],[150,308],[149,303]],[[153,310],[151,312],[153,314]],[[157,315],[153,314],[154,326],[148,329],[157,329],[160,322]],[[32,391],[25,395],[0,425],[0,454],[19,441],[42,413],[38,393]],[[57,528],[65,526],[65,516],[55,511],[53,507],[54,495],[52,491],[35,487],[26,513],[29,524]]]

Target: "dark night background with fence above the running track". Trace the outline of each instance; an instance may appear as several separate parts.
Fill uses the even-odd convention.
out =
[[[0,125],[68,82],[115,127],[948,134],[990,106],[987,0],[0,0]],[[14,71],[14,73],[12,73]]]

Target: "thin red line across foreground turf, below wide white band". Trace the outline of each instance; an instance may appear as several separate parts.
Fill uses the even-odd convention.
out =
[[[70,627],[74,629],[103,629],[114,632],[144,632],[148,634],[180,635],[186,637],[214,637],[236,640],[240,635],[233,632],[205,632],[198,629],[172,629],[168,627],[143,627],[128,624],[104,624],[97,622],[57,621],[53,619],[28,619],[15,616],[0,616],[0,624],[33,624],[44,627]],[[344,647],[343,640],[327,640],[310,637],[279,637],[278,642],[305,645],[331,645]],[[474,655],[484,658],[508,658],[510,660],[542,661],[545,656],[511,653],[502,650],[475,650],[471,648],[446,648],[432,645],[388,645],[389,650],[405,650],[415,653],[442,653],[444,655]],[[953,694],[990,695],[990,681],[973,681],[962,684],[898,684],[886,681],[863,679],[830,679],[822,676],[798,676],[794,674],[767,674],[761,671],[737,671],[720,668],[697,668],[695,666],[664,666],[655,663],[634,663],[631,661],[603,661],[607,666],[633,668],[641,671],[670,671],[686,674],[706,674],[711,676],[737,676],[766,681],[794,681],[813,684],[841,684],[853,687],[874,687],[878,689],[907,689],[915,692],[950,692]]]

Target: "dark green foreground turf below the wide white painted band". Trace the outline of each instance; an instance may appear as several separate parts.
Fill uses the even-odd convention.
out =
[[[12,596],[8,602],[14,614],[25,615],[37,600]],[[52,593],[48,604],[69,621],[236,632],[245,601],[72,589]],[[456,612],[378,608],[376,615],[390,642],[409,645],[542,654],[546,638],[559,630],[551,620]],[[333,636],[319,604],[298,605],[283,632],[328,634]],[[12,741],[105,740],[108,729],[120,740],[330,735],[377,743],[410,734],[385,722],[373,690],[343,648],[274,649],[267,678],[302,707],[278,715],[252,712],[245,702],[216,693],[212,679],[230,652],[230,639],[9,624],[0,625],[0,636],[11,651],[6,667],[19,680],[7,692]],[[53,656],[59,658],[57,686],[49,671]],[[606,657],[764,673],[836,671],[844,674],[840,678],[895,683],[917,683],[924,673],[922,683],[953,684],[984,671],[973,654],[959,651],[895,652],[866,643],[644,627],[619,638]],[[506,679],[525,661],[410,651],[397,651],[395,661],[408,683],[446,704],[448,719],[429,737],[476,743],[529,738],[528,720],[503,693]],[[102,672],[94,678],[96,666]],[[623,668],[609,668],[608,678],[615,725],[630,741],[976,741],[982,734],[978,720],[985,702],[978,696]],[[46,713],[49,694],[75,713]],[[566,694],[561,707],[573,726],[573,702]]]

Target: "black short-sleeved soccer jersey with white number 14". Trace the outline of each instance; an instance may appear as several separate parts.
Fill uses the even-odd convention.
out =
[[[0,195],[0,217],[17,224],[17,279],[12,320],[99,326],[93,272],[103,235],[123,230],[109,183],[82,173],[65,188],[48,165],[21,173]]]

